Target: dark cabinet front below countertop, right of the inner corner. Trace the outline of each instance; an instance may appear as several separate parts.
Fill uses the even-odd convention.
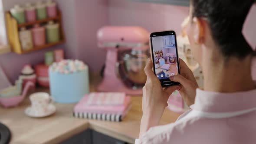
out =
[[[97,131],[92,131],[92,137],[92,144],[127,144],[124,141],[120,141],[105,134],[98,133]]]

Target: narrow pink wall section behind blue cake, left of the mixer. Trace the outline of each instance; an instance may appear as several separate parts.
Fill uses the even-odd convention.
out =
[[[98,72],[105,62],[106,51],[97,46],[97,31],[108,25],[107,0],[76,0],[76,31],[78,59]],[[99,75],[99,74],[98,74]]]

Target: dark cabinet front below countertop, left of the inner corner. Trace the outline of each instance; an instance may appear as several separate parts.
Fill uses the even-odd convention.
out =
[[[92,130],[85,130],[65,141],[62,141],[60,144],[92,144]]]

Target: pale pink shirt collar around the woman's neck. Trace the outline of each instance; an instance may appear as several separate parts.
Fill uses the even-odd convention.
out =
[[[256,89],[246,92],[207,92],[197,88],[193,109],[205,112],[231,112],[256,107]]]

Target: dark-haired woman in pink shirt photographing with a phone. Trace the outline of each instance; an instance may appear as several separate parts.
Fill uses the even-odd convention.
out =
[[[250,19],[246,19],[248,13]],[[250,25],[255,27],[249,27],[254,37],[248,35]],[[170,79],[181,85],[162,89],[149,59],[140,136],[135,143],[255,144],[256,85],[250,68],[255,29],[255,0],[191,0],[187,34],[203,69],[204,88],[198,88],[194,75],[180,60],[181,75]],[[174,90],[179,90],[191,110],[175,123],[158,126]]]

